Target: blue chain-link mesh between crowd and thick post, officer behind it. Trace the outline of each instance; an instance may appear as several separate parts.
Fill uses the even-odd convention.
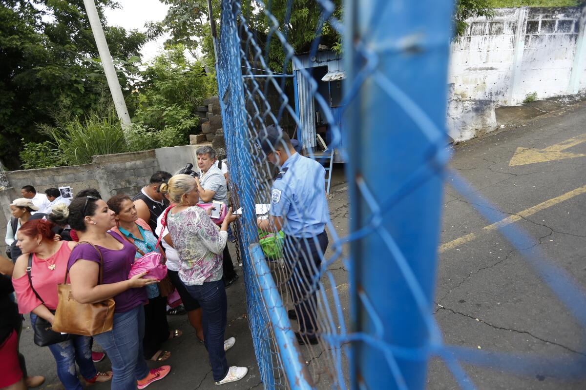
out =
[[[289,2],[287,10],[290,9]],[[326,158],[320,160],[315,157],[314,149],[305,148],[306,156],[312,160],[309,164],[307,161],[302,164],[303,170],[296,170],[295,166],[287,170],[287,167],[282,166],[282,160],[277,161],[277,154],[284,156],[284,159],[293,160],[296,157],[283,137],[266,142],[271,132],[270,129],[267,132],[267,127],[273,125],[278,132],[295,139],[295,129],[303,126],[295,111],[295,97],[292,93],[297,81],[289,76],[294,50],[287,43],[285,34],[278,30],[278,22],[271,14],[270,6],[253,1],[243,9],[240,2],[223,1],[221,15],[217,67],[219,95],[223,106],[228,163],[231,167],[237,167],[230,170],[230,182],[233,185],[235,208],[243,209],[238,229],[239,249],[246,275],[248,318],[264,386],[298,386],[288,382],[285,372],[288,363],[282,358],[283,346],[276,341],[278,335],[275,332],[287,329],[297,332],[306,341],[298,359],[302,367],[308,367],[308,378],[312,378],[308,382],[347,388],[346,360],[342,359],[339,341],[329,337],[346,333],[346,322],[342,315],[345,308],[340,304],[336,285],[346,284],[347,279],[336,281],[331,272],[327,271],[329,263],[323,256],[326,249],[324,241],[327,240],[324,240],[324,236],[327,234],[333,243],[330,247],[335,246],[338,252],[335,260],[340,261],[339,239],[329,221],[325,193],[326,168],[329,169],[331,149],[322,152]],[[325,19],[321,23],[323,21]],[[268,30],[255,29],[260,25],[268,27]],[[314,24],[313,28],[319,29],[319,26]],[[278,71],[271,70],[268,65],[265,49],[271,45],[271,39],[278,42],[285,57]],[[299,61],[297,65],[301,65]],[[306,78],[311,78],[310,71],[301,72]],[[313,84],[312,96],[315,95],[328,108],[326,116],[332,119],[325,98],[316,94],[316,82]],[[300,104],[307,105],[307,102]],[[333,123],[333,120],[330,122]],[[339,140],[340,131],[337,127],[331,129],[331,134],[335,141]],[[264,151],[261,148],[263,143]],[[291,164],[291,160],[285,165]],[[321,163],[314,160],[320,160]],[[308,165],[310,168],[306,171]],[[283,170],[282,178],[276,178]],[[275,181],[285,183],[280,185],[278,192],[274,192]],[[301,185],[303,187],[299,187]],[[295,235],[284,234],[281,238],[277,233],[279,226],[275,227],[271,212],[265,230],[257,229],[255,205],[271,205],[274,209],[285,202],[288,202],[286,215],[289,219],[292,217],[301,221],[294,229]],[[320,213],[325,218],[314,217]],[[267,215],[259,217],[267,218]],[[295,223],[285,222],[286,219],[283,221],[283,230],[291,233],[291,226]],[[316,226],[305,223],[308,220],[314,221]],[[320,230],[325,230],[325,233],[318,238]],[[259,240],[264,244],[264,253],[270,256],[266,260],[261,258],[261,261],[256,261],[258,254],[263,254],[258,251],[255,254],[253,248],[253,244]],[[272,277],[274,285],[268,286],[266,281],[260,280],[267,274]],[[263,297],[267,291],[281,299],[278,302],[267,302]],[[279,305],[281,312],[277,312],[278,308],[271,305]],[[291,325],[287,310],[292,310],[299,317],[298,320],[292,320]],[[280,320],[277,329],[273,329],[275,316]],[[289,336],[293,336],[293,333],[289,333]],[[319,337],[318,344],[311,343],[315,337]]]

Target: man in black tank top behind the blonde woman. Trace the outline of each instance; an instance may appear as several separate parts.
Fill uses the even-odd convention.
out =
[[[144,220],[151,227],[155,237],[158,238],[156,232],[156,219],[165,211],[169,202],[165,199],[163,194],[159,192],[161,184],[166,183],[171,178],[171,174],[165,171],[157,171],[151,176],[149,185],[142,187],[141,192],[132,198],[132,202],[137,207],[138,218]]]

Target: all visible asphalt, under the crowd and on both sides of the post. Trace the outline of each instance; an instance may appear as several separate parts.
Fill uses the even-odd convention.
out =
[[[475,191],[472,192],[474,196],[482,195],[492,202],[505,213],[503,218],[508,217],[505,223],[523,229],[552,263],[584,288],[586,156],[578,155],[586,154],[586,141],[581,141],[586,140],[583,136],[585,124],[586,102],[577,103],[531,122],[455,146],[451,162],[451,167],[471,182],[475,189],[470,191]],[[561,158],[568,157],[564,153],[576,156]],[[509,165],[513,156],[513,165]],[[336,233],[339,237],[345,236],[349,218],[345,184],[335,183],[329,196],[329,208]],[[495,229],[485,229],[490,223],[449,184],[445,188],[442,225],[434,316],[445,343],[517,353],[522,357],[584,356],[584,332],[568,309],[536,276],[522,253]],[[332,242],[332,234],[330,237]],[[332,246],[326,256],[331,253]],[[233,258],[236,258],[234,253]],[[338,292],[347,324],[346,267],[340,259],[328,270],[335,287],[332,289],[331,282],[323,279],[325,293],[331,305],[332,290]],[[243,381],[222,388],[262,388],[246,318],[246,292],[242,278],[227,290],[227,295],[229,325],[226,337],[237,338],[236,346],[227,354],[228,363],[246,365],[249,374]],[[172,328],[183,330],[183,336],[165,344],[165,349],[172,352],[171,358],[165,362],[172,365],[172,372],[149,389],[217,388],[205,348],[196,341],[186,316],[169,317],[169,322]],[[295,327],[295,323],[292,326]],[[62,388],[48,348],[39,348],[32,343],[30,329],[25,329],[21,350],[28,360],[30,374],[47,377],[43,388]],[[327,360],[329,354],[314,346],[301,347],[301,353],[308,362],[316,386],[329,388],[329,367],[332,364]],[[342,357],[340,363],[347,378],[346,358]],[[149,365],[156,367],[158,364]],[[107,370],[108,366],[107,359],[97,364],[98,370]],[[479,389],[586,388],[585,380],[560,380],[550,372],[523,376],[471,365],[463,367]],[[427,387],[459,388],[445,365],[438,360],[430,363]],[[99,390],[110,386],[100,384],[93,388]]]

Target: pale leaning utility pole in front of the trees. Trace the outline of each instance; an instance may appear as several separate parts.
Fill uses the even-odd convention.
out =
[[[94,33],[94,39],[96,39],[96,46],[98,47],[98,53],[100,53],[100,59],[104,67],[106,80],[108,80],[108,87],[110,87],[112,99],[114,100],[114,106],[118,113],[118,118],[122,122],[122,129],[124,129],[131,125],[130,115],[128,115],[128,109],[126,108],[124,95],[122,95],[120,82],[118,82],[112,56],[110,56],[110,49],[108,49],[100,16],[98,15],[94,0],[83,0],[83,4],[86,6],[87,18],[90,19],[91,32]]]

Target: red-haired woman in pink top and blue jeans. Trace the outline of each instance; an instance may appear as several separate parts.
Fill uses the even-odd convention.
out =
[[[71,241],[54,241],[54,226],[52,222],[36,219],[22,225],[16,233],[16,246],[23,254],[16,260],[12,285],[16,292],[18,311],[21,314],[31,313],[32,323],[36,322],[37,317],[53,323],[53,313],[57,308],[57,284],[63,283],[67,261],[75,246]],[[26,272],[29,253],[33,255],[30,282]],[[35,295],[31,283],[42,301]],[[86,379],[86,384],[105,382],[112,378],[112,371],[96,371],[91,361],[90,337],[75,336],[62,343],[50,345],[49,350],[57,362],[57,375],[66,390],[82,389],[76,374],[76,363]]]

